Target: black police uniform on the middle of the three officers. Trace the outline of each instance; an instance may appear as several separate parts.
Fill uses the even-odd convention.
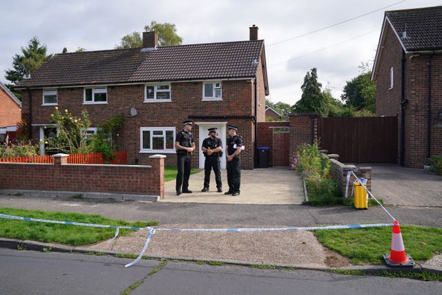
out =
[[[213,139],[212,137],[207,137],[202,142],[202,147],[204,147],[205,149],[213,150],[216,149],[218,146],[222,146],[222,140],[218,137],[215,137]],[[210,173],[213,169],[213,172],[215,173],[216,188],[218,189],[218,192],[222,191],[221,169],[220,169],[221,156],[222,156],[222,151],[212,153],[211,155],[207,155],[207,153],[204,153],[204,157],[206,157],[206,159],[204,160],[204,189],[209,189]]]

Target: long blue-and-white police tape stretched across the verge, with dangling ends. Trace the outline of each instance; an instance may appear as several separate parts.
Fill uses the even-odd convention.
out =
[[[103,228],[113,228],[116,229],[115,236],[108,240],[108,242],[113,242],[115,238],[118,236],[119,229],[133,229],[133,230],[148,230],[148,236],[146,238],[146,242],[144,243],[144,247],[140,253],[140,255],[133,260],[133,262],[124,265],[124,267],[131,267],[138,263],[144,253],[148,248],[148,244],[151,241],[153,234],[156,231],[200,231],[200,232],[252,232],[252,231],[309,231],[309,230],[322,230],[322,229],[363,229],[367,227],[392,227],[392,223],[377,223],[377,224],[368,224],[368,225],[329,225],[323,227],[274,227],[274,228],[226,228],[226,229],[177,229],[177,228],[153,228],[153,227],[124,227],[124,226],[115,226],[115,225],[97,225],[93,223],[81,223],[81,222],[69,222],[69,221],[59,221],[59,220],[47,220],[47,219],[39,219],[39,218],[28,218],[21,216],[12,216],[6,214],[0,214],[0,218],[8,218],[15,220],[25,220],[25,221],[33,221],[33,222],[48,222],[48,223],[56,223],[60,225],[78,225],[84,227],[103,227]]]

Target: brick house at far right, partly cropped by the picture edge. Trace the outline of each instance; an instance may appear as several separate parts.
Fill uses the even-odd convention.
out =
[[[385,12],[374,60],[376,116],[398,116],[398,164],[442,154],[442,6]]]

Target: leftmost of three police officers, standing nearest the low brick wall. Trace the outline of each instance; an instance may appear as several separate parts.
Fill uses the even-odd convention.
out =
[[[177,133],[175,138],[175,150],[177,151],[177,180],[175,189],[177,196],[181,193],[192,193],[189,191],[189,177],[191,175],[191,153],[195,150],[193,142],[192,121],[183,122],[182,131]]]

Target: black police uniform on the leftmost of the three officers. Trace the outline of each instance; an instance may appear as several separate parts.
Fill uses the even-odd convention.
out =
[[[180,131],[177,133],[175,142],[181,146],[192,147],[193,135],[189,131]],[[191,153],[182,149],[177,150],[177,193],[189,191],[189,178],[191,175]]]

